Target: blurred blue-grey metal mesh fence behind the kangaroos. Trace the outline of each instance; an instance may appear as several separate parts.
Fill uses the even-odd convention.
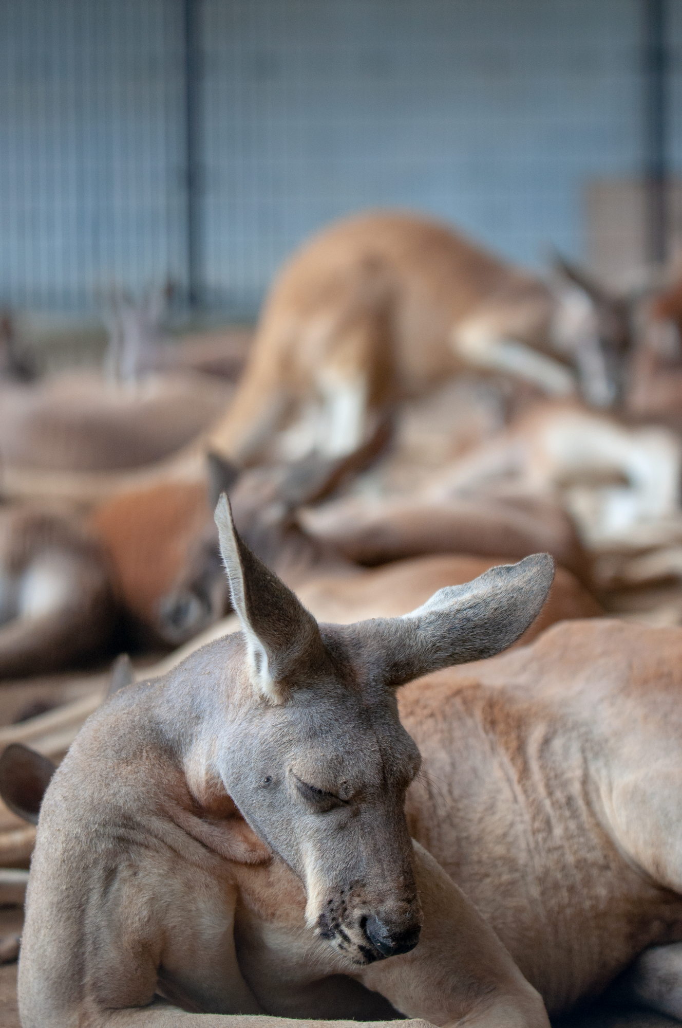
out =
[[[170,279],[252,317],[306,234],[374,206],[526,263],[601,253],[617,205],[585,196],[648,176],[646,257],[681,51],[679,0],[0,0],[0,304]]]

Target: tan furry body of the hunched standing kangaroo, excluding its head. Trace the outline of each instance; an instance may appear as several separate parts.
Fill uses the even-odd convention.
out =
[[[561,369],[550,342],[556,306],[539,280],[434,222],[395,213],[341,221],[277,278],[212,448],[251,461],[292,407],[315,397],[329,407],[344,391],[357,392],[357,416],[371,420],[471,363],[495,368],[488,350],[500,340]],[[557,374],[570,383],[566,369]],[[351,434],[343,451],[357,441]]]

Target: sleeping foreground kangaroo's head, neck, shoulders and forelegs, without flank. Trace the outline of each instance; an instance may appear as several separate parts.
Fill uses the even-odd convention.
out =
[[[546,1028],[493,932],[410,842],[419,752],[395,689],[513,642],[552,559],[493,568],[408,617],[318,625],[224,498],[217,521],[242,632],[116,693],[55,772],[27,895],[24,1028],[396,1011]]]

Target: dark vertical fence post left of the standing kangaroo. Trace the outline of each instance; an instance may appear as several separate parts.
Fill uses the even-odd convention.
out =
[[[185,30],[185,175],[187,219],[187,302],[190,310],[201,306],[201,0],[183,0]]]

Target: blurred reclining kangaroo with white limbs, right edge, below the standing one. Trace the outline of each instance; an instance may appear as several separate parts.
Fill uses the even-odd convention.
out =
[[[427,502],[470,492],[564,494],[589,550],[636,548],[680,508],[679,438],[658,426],[631,428],[562,401],[538,404],[508,429],[444,467]]]

